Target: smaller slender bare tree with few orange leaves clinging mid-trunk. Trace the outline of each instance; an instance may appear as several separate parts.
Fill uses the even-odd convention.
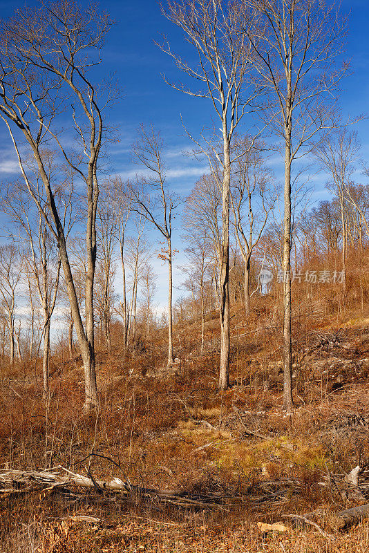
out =
[[[138,142],[133,145],[135,160],[142,165],[149,176],[141,176],[137,186],[129,188],[132,208],[150,221],[164,238],[160,258],[168,263],[168,367],[173,365],[173,250],[172,219],[178,207],[179,198],[167,187],[167,175],[163,159],[164,141],[153,126],[142,125]]]

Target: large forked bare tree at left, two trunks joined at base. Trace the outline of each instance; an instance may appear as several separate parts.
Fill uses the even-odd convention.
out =
[[[110,26],[108,17],[100,15],[95,7],[84,9],[73,1],[61,0],[42,3],[38,9],[17,10],[15,17],[2,22],[0,30],[0,116],[8,126],[28,192],[57,243],[84,364],[86,410],[97,404],[93,280],[99,195],[97,160],[104,131],[98,90],[89,73],[100,63],[100,48]],[[76,139],[73,148],[70,148],[70,135],[62,134],[58,128],[59,115],[64,114],[65,124],[68,110]],[[28,178],[21,153],[22,137],[35,158],[50,214],[39,203],[37,191]],[[48,178],[42,156],[46,142],[53,142],[59,148],[61,158],[85,186],[86,325],[75,292],[62,217],[55,202],[57,187]]]

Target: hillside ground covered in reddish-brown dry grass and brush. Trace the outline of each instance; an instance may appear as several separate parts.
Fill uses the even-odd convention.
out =
[[[193,347],[198,325],[182,333],[169,373],[158,342],[100,350],[94,415],[82,409],[78,357],[54,362],[50,402],[37,368],[3,370],[1,553],[369,551],[368,519],[337,525],[338,512],[369,503],[367,321],[300,329],[292,415],[278,339],[256,330],[232,328],[225,393],[216,351]],[[32,471],[81,475],[91,488],[41,485]],[[95,485],[114,478],[124,493]]]

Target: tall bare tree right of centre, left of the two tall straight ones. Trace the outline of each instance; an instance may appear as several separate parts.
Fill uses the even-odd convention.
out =
[[[222,176],[222,231],[220,239],[220,371],[219,388],[229,386],[229,186],[231,181],[231,139],[243,118],[247,105],[254,99],[256,88],[252,88],[248,97],[241,97],[245,91],[245,80],[249,71],[251,50],[249,40],[242,30],[247,25],[249,33],[256,41],[254,21],[248,14],[245,19],[240,3],[223,0],[181,0],[168,1],[164,15],[183,30],[185,38],[196,50],[199,64],[189,64],[173,53],[169,44],[162,49],[176,62],[187,75],[200,83],[200,91],[193,91],[184,84],[174,88],[197,97],[205,97],[214,106],[216,117],[220,120],[220,134],[211,141],[202,135],[206,147],[200,149],[207,153],[209,148],[213,159],[223,171]],[[246,96],[246,95],[245,95]],[[211,142],[221,143],[221,153],[211,147]],[[213,171],[214,172],[214,171]]]

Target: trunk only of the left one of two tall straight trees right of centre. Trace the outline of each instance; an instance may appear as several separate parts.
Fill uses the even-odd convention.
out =
[[[225,122],[223,122],[225,126]],[[223,129],[224,171],[222,193],[222,243],[220,245],[220,368],[219,389],[229,387],[229,185],[231,181],[231,160],[227,129]]]

